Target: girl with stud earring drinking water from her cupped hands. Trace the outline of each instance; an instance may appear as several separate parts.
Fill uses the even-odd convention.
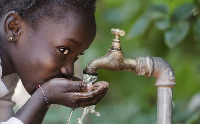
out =
[[[94,11],[95,0],[0,1],[1,124],[39,124],[50,104],[84,107],[105,95],[107,82],[73,81],[74,62],[96,35]],[[31,98],[14,115],[15,73]]]

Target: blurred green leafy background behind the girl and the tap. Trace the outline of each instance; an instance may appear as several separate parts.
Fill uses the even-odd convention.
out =
[[[200,124],[200,0],[99,0],[96,6],[97,35],[78,70],[107,53],[111,28],[123,29],[127,58],[158,56],[174,68],[173,124]],[[98,80],[108,81],[109,91],[96,106],[101,116],[88,114],[85,124],[156,124],[154,77],[99,69]],[[44,124],[65,124],[69,113],[69,108],[52,106]],[[81,113],[75,109],[71,124]]]

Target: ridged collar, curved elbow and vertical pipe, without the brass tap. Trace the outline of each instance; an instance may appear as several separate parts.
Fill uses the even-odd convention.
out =
[[[157,86],[157,124],[172,123],[173,92],[176,85],[173,68],[159,57],[139,57],[136,59],[137,75],[156,77]]]

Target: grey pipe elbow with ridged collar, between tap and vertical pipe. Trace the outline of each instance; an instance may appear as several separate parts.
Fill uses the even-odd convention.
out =
[[[156,77],[156,86],[175,86],[174,70],[168,62],[160,57],[139,57],[136,58],[137,75]]]

